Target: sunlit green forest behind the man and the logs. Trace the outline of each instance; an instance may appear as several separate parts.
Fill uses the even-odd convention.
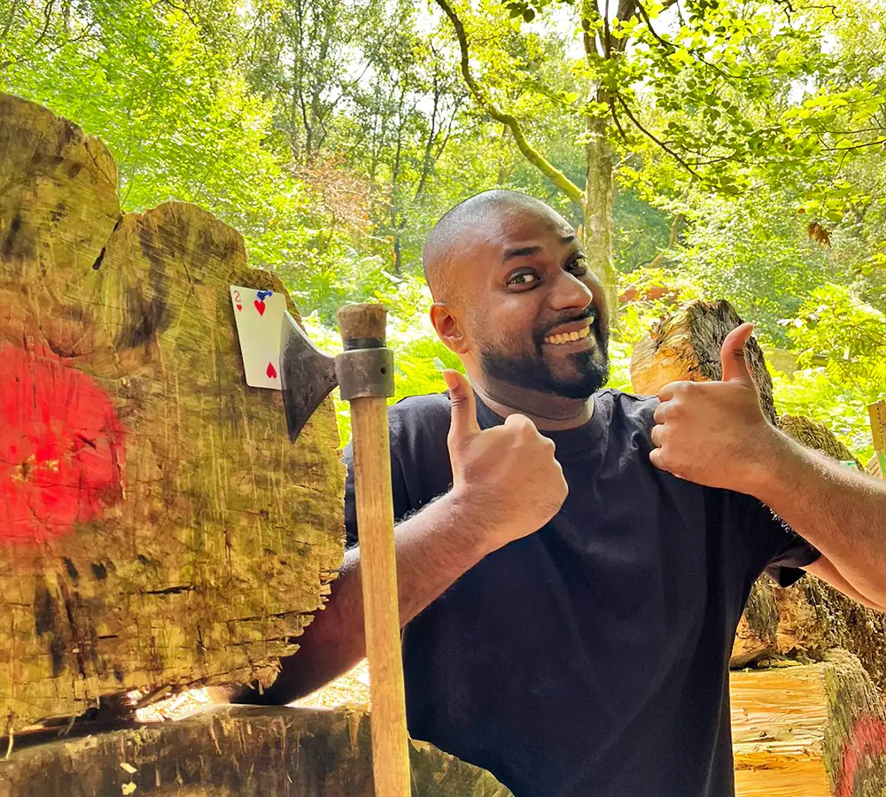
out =
[[[391,313],[442,391],[421,244],[503,187],[577,227],[618,305],[610,385],[675,303],[727,298],[781,411],[863,461],[886,398],[884,0],[3,0],[0,89],[100,136],[127,211],[245,237],[319,344]],[[339,407],[347,436],[346,408]]]

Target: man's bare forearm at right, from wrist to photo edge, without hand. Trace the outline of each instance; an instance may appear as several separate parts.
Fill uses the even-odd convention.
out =
[[[818,548],[855,590],[886,605],[886,482],[842,468],[778,432],[748,491]]]

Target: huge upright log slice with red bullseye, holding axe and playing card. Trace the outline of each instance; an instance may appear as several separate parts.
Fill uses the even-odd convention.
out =
[[[0,95],[0,732],[267,682],[343,554],[331,402],[291,445],[243,378],[229,284],[281,283],[209,213],[123,214],[116,185],[97,139]]]

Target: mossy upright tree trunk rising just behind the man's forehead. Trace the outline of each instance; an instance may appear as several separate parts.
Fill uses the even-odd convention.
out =
[[[615,201],[612,147],[606,135],[605,120],[589,116],[585,134],[587,181],[582,207],[582,244],[588,267],[594,271],[606,290],[610,323],[614,323],[618,309],[618,275],[612,261],[612,205]]]

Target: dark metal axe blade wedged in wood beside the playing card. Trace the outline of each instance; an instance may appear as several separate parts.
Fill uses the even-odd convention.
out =
[[[338,384],[335,359],[323,354],[290,313],[280,330],[280,382],[286,426],[294,443],[307,419]]]

